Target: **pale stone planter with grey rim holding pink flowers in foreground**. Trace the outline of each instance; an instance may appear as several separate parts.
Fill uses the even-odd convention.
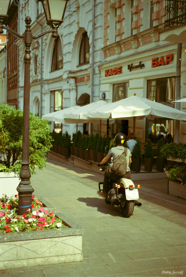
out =
[[[82,261],[83,229],[62,214],[56,215],[70,228],[8,234],[0,231],[0,270]]]

